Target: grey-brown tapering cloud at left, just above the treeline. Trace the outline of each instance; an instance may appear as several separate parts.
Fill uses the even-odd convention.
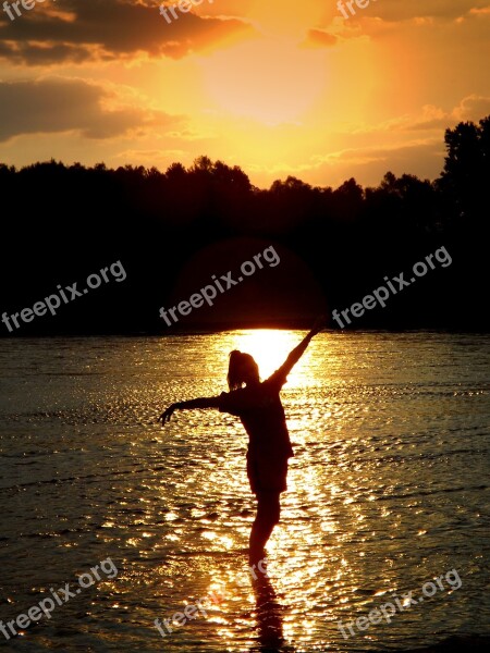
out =
[[[114,91],[81,79],[0,83],[0,141],[73,131],[102,139],[181,122],[183,118],[162,111],[124,106]]]

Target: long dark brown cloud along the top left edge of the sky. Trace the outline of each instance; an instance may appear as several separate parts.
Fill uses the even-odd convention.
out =
[[[22,9],[22,5],[21,5]],[[212,46],[248,24],[237,19],[177,13],[168,23],[159,3],[128,0],[46,0],[10,21],[1,12],[0,57],[46,65],[117,60],[138,54],[181,59]]]

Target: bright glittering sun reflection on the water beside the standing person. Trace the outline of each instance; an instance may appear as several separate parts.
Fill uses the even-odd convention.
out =
[[[252,354],[259,365],[260,377],[264,380],[284,362],[290,350],[301,342],[303,335],[304,334],[299,334],[298,332],[266,329],[252,332],[240,332],[231,335],[223,335],[220,341],[217,342],[216,352],[217,355],[219,355],[223,350],[230,352],[232,349],[240,349]],[[329,347],[324,347],[324,343],[323,353],[329,358],[332,366],[339,365],[339,361],[336,360],[338,352],[329,352]],[[301,415],[302,393],[307,392],[309,387],[318,386],[317,374],[322,374],[320,366],[313,365],[310,359],[311,352],[307,350],[293,369],[287,381],[287,390],[298,393],[297,417],[289,420],[289,428],[292,434],[294,433],[295,444],[301,444],[303,446],[307,439],[307,433],[304,431],[304,427],[307,428],[307,420]],[[322,375],[324,385],[324,370]],[[310,419],[315,419],[315,415],[318,415],[318,412],[319,409],[316,408],[313,414],[309,414]],[[328,415],[323,414],[323,417],[328,417]],[[319,469],[320,468],[316,466],[313,468],[302,468],[298,470],[298,473],[290,473],[289,491],[291,496],[294,496],[295,498],[283,502],[282,520],[283,522],[290,522],[292,526],[287,530],[278,527],[268,543],[267,551],[271,560],[274,558],[284,558],[281,560],[281,572],[274,579],[274,593],[287,595],[291,594],[292,591],[294,592],[294,588],[309,588],[309,592],[306,592],[302,604],[292,607],[290,614],[281,619],[281,623],[277,619],[274,620],[273,616],[271,618],[271,615],[266,614],[266,620],[269,617],[273,624],[273,629],[275,629],[275,631],[267,633],[272,640],[266,641],[268,644],[272,643],[274,645],[280,645],[282,638],[284,638],[285,640],[295,640],[296,642],[302,642],[307,645],[308,643],[311,643],[313,636],[315,634],[315,619],[308,618],[305,615],[316,607],[317,600],[315,595],[317,590],[321,589],[319,574],[324,567],[324,560],[321,556],[318,556],[316,559],[313,558],[308,566],[305,567],[301,557],[294,555],[294,551],[291,549],[291,540],[294,533],[295,540],[299,544],[299,551],[314,547],[318,533],[315,532],[314,528],[310,528],[304,522],[294,526],[296,514],[304,510],[305,506],[310,506],[309,514],[318,513],[318,506],[322,501],[322,496],[324,496],[326,490],[329,491],[330,489],[332,493],[341,492],[339,488],[331,483],[330,488],[328,483],[326,485],[326,479],[319,473]],[[299,489],[302,490],[301,492]],[[246,488],[244,488],[244,491],[246,491]],[[327,519],[321,522],[320,529],[327,533],[335,533],[336,526],[334,519],[324,514],[323,516],[327,517]],[[363,517],[359,516],[359,520],[362,519]],[[226,546],[225,542],[222,543]],[[230,544],[230,542],[228,542],[228,544]],[[284,556],[286,552],[287,555]],[[341,567],[336,572],[338,580],[342,574],[348,572],[348,569],[345,569],[346,566],[347,562],[342,559]],[[273,565],[269,563],[269,575],[271,577],[273,577],[272,569]],[[315,580],[316,578],[317,580]],[[233,594],[233,588],[226,583],[225,578],[221,579],[221,583],[211,583],[209,590],[218,590],[223,595]],[[308,597],[308,594],[310,594],[310,597]],[[252,589],[248,592],[247,600],[250,606],[254,605],[257,600],[257,597],[254,596]],[[259,601],[257,601],[257,603]],[[265,603],[267,605],[267,597],[265,599]],[[224,608],[224,605],[222,607]],[[257,618],[257,615],[255,615],[255,617]],[[233,627],[231,625],[225,625],[222,617],[220,617],[217,623],[221,624],[219,632],[223,638],[223,641],[228,638],[233,639]],[[254,630],[254,626],[255,624],[253,623],[248,624],[252,631]],[[274,637],[274,634],[277,637]],[[252,643],[253,642],[249,642],[249,644]]]

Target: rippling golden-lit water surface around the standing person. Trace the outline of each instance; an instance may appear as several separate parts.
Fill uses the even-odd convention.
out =
[[[255,591],[246,435],[217,410],[156,418],[226,390],[228,353],[262,377],[303,333],[0,341],[0,618],[111,557],[19,651],[407,650],[490,633],[490,337],[322,333],[284,386],[295,457]],[[431,597],[348,639],[351,623],[434,577]],[[164,639],[209,596],[206,616]],[[393,599],[392,599],[393,600]]]

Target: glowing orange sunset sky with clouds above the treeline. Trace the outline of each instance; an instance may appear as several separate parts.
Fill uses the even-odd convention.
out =
[[[1,11],[0,162],[207,155],[260,187],[370,185],[434,178],[445,127],[490,114],[490,0],[371,0],[348,20],[336,0],[204,0],[170,24],[160,4]]]

